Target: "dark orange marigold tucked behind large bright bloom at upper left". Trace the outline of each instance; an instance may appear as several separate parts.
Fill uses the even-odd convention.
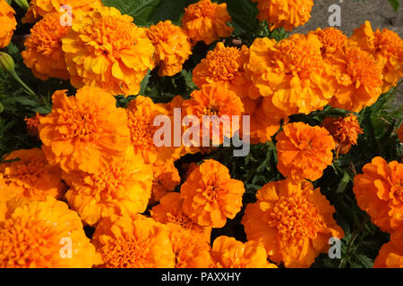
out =
[[[70,27],[60,25],[59,13],[49,13],[30,29],[30,37],[21,53],[24,63],[40,80],[70,78],[64,62],[62,38]]]

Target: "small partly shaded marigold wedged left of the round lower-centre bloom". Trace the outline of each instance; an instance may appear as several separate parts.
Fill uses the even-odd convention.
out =
[[[152,181],[150,202],[156,203],[167,193],[176,189],[176,186],[181,183],[181,177],[173,160],[164,164],[152,164],[151,170],[154,174],[154,180]]]

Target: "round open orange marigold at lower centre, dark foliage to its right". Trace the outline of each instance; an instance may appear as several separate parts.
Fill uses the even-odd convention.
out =
[[[181,187],[184,214],[201,226],[221,228],[242,207],[244,183],[231,179],[226,166],[205,160]]]

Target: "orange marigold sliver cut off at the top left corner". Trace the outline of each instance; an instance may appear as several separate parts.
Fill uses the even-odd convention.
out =
[[[14,18],[14,9],[5,1],[0,0],[0,48],[10,44],[17,21]]]

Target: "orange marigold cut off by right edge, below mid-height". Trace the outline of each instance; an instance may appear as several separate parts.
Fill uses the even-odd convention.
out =
[[[354,178],[358,206],[371,216],[382,231],[397,231],[403,227],[403,164],[374,157],[365,164],[363,174]]]

